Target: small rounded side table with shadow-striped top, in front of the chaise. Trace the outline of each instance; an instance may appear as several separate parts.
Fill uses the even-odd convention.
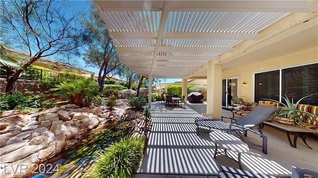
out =
[[[238,162],[239,169],[242,170],[242,164],[240,161],[241,153],[246,153],[249,151],[248,145],[244,143],[239,138],[220,131],[212,131],[209,133],[210,139],[212,142],[215,143],[215,151],[213,158],[216,159],[218,153],[225,153],[225,156],[231,158],[232,160],[236,161],[233,157],[227,154],[227,150],[234,151],[238,153]],[[224,151],[218,152],[218,147],[224,149]]]

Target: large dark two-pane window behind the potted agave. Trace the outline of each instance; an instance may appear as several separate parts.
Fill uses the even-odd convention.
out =
[[[294,98],[294,102],[304,96],[318,93],[318,63],[255,74],[254,102],[264,98],[279,101],[280,91],[283,96],[286,94],[288,98]],[[305,98],[300,103],[318,106],[318,95]]]

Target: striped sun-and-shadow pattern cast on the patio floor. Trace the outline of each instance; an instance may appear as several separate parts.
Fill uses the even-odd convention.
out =
[[[219,173],[218,165],[238,168],[238,163],[223,156],[213,159],[214,143],[209,132],[196,135],[195,117],[201,116],[188,106],[165,108],[160,102],[152,103],[153,127],[148,147],[138,174],[183,175],[214,177]],[[261,151],[260,151],[261,152]],[[237,158],[235,152],[229,151]],[[290,171],[278,163],[265,159],[259,153],[243,153],[243,170],[268,175],[290,176]],[[135,178],[138,177],[138,174]]]

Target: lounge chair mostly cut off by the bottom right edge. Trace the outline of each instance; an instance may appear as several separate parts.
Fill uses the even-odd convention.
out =
[[[276,178],[273,176],[263,175],[259,173],[253,173],[249,171],[243,171],[235,168],[230,168],[226,166],[220,166],[221,172],[218,174],[218,178]],[[291,178],[304,178],[305,175],[318,177],[318,172],[298,168],[292,166]]]

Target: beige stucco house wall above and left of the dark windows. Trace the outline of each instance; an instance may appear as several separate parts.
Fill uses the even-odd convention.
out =
[[[282,56],[275,59],[269,59],[244,67],[223,70],[222,78],[239,76],[239,96],[244,97],[245,101],[254,100],[254,73],[266,72],[275,69],[288,68],[293,66],[305,65],[318,62],[318,46],[290,55]],[[241,86],[242,82],[247,83]]]

